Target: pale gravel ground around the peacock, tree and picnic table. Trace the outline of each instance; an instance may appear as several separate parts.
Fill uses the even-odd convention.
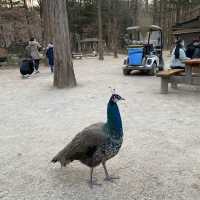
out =
[[[200,88],[180,86],[160,94],[160,79],[125,77],[122,57],[74,63],[78,86],[57,90],[46,67],[31,79],[0,70],[0,199],[3,200],[199,200]],[[66,168],[51,158],[87,125],[105,121],[109,86],[126,98],[119,105],[124,143],[108,162],[119,175],[90,189],[89,169]]]

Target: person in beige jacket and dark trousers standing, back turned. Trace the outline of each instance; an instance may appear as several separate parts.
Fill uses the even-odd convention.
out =
[[[39,65],[40,65],[39,49],[41,48],[41,45],[39,44],[39,42],[35,40],[35,38],[31,38],[27,48],[30,49],[30,55],[34,62],[35,73],[39,73]]]

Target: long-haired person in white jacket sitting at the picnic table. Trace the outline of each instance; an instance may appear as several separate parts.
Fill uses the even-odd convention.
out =
[[[176,47],[172,51],[172,59],[170,67],[172,69],[185,69],[185,60],[188,60],[185,54],[184,41],[179,39],[176,42]]]

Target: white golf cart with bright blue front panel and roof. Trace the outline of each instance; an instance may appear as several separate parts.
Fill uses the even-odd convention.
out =
[[[133,26],[127,28],[128,56],[124,59],[123,74],[133,70],[155,75],[164,67],[162,29],[159,26]]]

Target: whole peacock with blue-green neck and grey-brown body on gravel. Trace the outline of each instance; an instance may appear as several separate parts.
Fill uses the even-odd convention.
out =
[[[124,100],[120,95],[113,93],[107,104],[107,122],[92,124],[81,132],[52,159],[53,163],[60,162],[61,167],[74,160],[90,167],[89,184],[99,185],[93,180],[93,169],[102,164],[105,171],[105,180],[113,181],[117,177],[108,174],[106,161],[114,157],[120,150],[123,142],[123,128],[117,102]]]

